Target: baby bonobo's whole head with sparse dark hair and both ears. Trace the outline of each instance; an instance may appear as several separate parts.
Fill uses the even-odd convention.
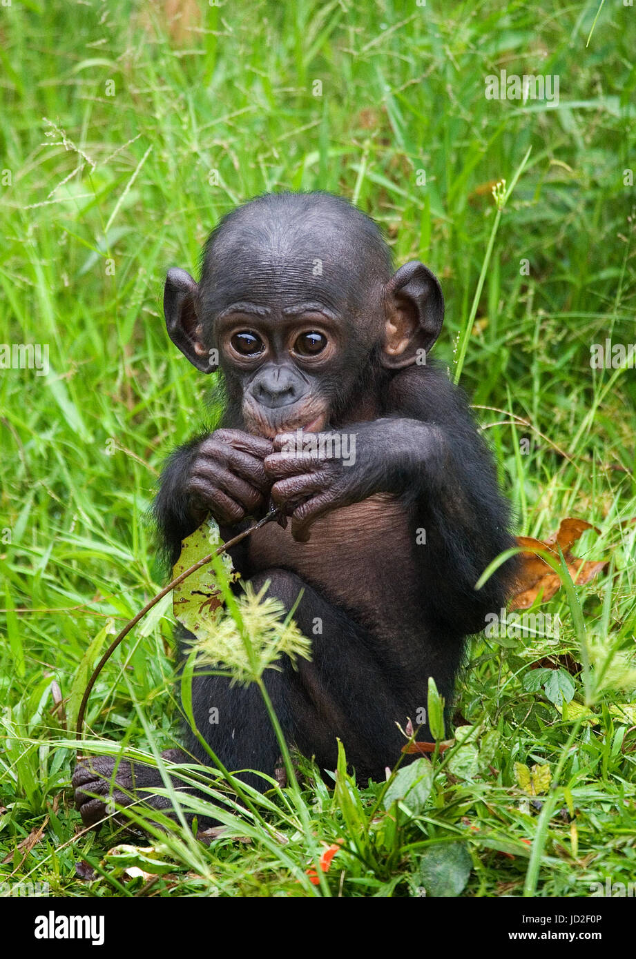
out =
[[[199,284],[168,272],[164,312],[191,363],[221,364],[247,431],[274,436],[366,418],[361,383],[425,356],[444,301],[423,264],[392,273],[380,230],[347,200],[282,193],[224,217]]]

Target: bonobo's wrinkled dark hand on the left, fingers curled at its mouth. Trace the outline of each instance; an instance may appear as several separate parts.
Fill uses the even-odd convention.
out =
[[[272,479],[263,466],[271,441],[241,430],[216,430],[201,440],[190,466],[187,492],[193,516],[209,510],[224,525],[265,512]]]

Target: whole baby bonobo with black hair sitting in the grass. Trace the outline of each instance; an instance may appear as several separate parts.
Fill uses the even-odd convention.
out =
[[[512,575],[508,562],[475,590],[512,540],[466,401],[429,360],[439,283],[417,261],[393,272],[380,230],[345,199],[272,194],[219,223],[199,283],[169,270],[164,311],[191,363],[220,366],[226,395],[220,428],[179,447],[163,473],[154,508],[167,556],[208,513],[224,540],[271,502],[291,515],[231,552],[242,578],[256,590],[268,582],[287,609],[302,592],[294,619],[312,660],[266,672],[272,704],[289,743],[320,769],[334,769],[340,738],[359,782],[384,779],[405,744],[396,724],[416,724],[429,676],[451,702],[465,637],[505,604]],[[294,452],[298,431],[329,436]],[[273,775],[279,747],[257,688],[201,675],[193,702],[227,769]],[[431,739],[426,725],[418,738]],[[209,763],[191,734],[186,747]],[[86,825],[105,815],[113,765],[75,770]],[[131,782],[120,763],[116,801],[130,803]],[[162,784],[150,767],[135,767],[135,783],[144,798]]]

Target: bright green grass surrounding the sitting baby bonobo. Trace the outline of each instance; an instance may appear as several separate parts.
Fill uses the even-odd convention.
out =
[[[636,341],[633,9],[604,4],[594,24],[601,4],[563,0],[181,6],[201,15],[179,29],[160,3],[1,8],[0,339],[48,344],[51,370],[0,375],[0,877],[67,896],[406,897],[437,855],[449,875],[470,870],[467,896],[633,880],[636,371],[590,367],[592,343]],[[485,100],[484,77],[502,68],[558,75],[559,104]],[[489,184],[509,186],[530,148],[471,311]],[[163,459],[204,419],[208,383],[166,337],[163,278],[196,271],[236,203],[315,188],[382,223],[397,263],[418,257],[440,276],[436,355],[452,375],[468,330],[460,382],[516,531],[545,538],[582,517],[600,532],[575,552],[611,567],[545,606],[556,643],[473,643],[467,739],[390,815],[380,785],[358,790],[342,770],[328,789],[309,768],[301,794],[255,800],[258,816],[209,848],[173,830],[170,871],[139,861],[157,878],[130,878],[105,858],[125,840],[79,832],[64,717],[89,643],[161,584],[147,510]],[[164,603],[96,685],[87,720],[111,751],[176,741],[171,621]],[[591,722],[573,726],[531,689],[530,665],[563,653],[589,655],[574,697],[587,695]],[[515,762],[550,765],[541,809]],[[339,840],[312,885],[312,851]],[[75,876],[81,858],[99,867],[92,883]]]

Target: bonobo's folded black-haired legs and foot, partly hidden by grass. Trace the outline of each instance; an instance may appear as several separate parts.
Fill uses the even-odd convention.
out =
[[[312,640],[312,662],[300,660],[294,669],[286,657],[281,671],[268,669],[264,680],[286,740],[306,756],[315,756],[319,767],[333,769],[338,755],[336,738],[344,743],[347,759],[362,781],[384,775],[386,765],[399,759],[404,738],[395,722],[415,716],[421,690],[412,697],[404,690],[402,670],[391,669],[386,644],[374,641],[365,630],[295,573],[270,570],[250,580],[255,590],[270,582],[268,595],[280,599],[290,610],[302,591],[294,620]],[[413,684],[415,685],[415,684]],[[425,683],[423,685],[425,690]],[[396,690],[396,691],[393,691]],[[223,676],[195,675],[193,710],[198,729],[230,772],[256,788],[268,788],[255,770],[273,777],[280,747],[271,727],[265,703],[255,686],[230,686]],[[218,711],[218,712],[217,712]],[[202,764],[210,758],[192,733],[188,752]],[[188,761],[173,751],[173,761]],[[85,825],[94,825],[106,814],[105,802],[115,760],[99,757],[83,760],[73,775],[76,803]],[[113,798],[122,805],[133,800],[135,784],[153,788],[163,784],[157,769],[122,761],[115,777]],[[175,787],[183,788],[178,781]],[[91,799],[87,793],[104,796]],[[165,797],[147,798],[157,809],[170,807]]]

